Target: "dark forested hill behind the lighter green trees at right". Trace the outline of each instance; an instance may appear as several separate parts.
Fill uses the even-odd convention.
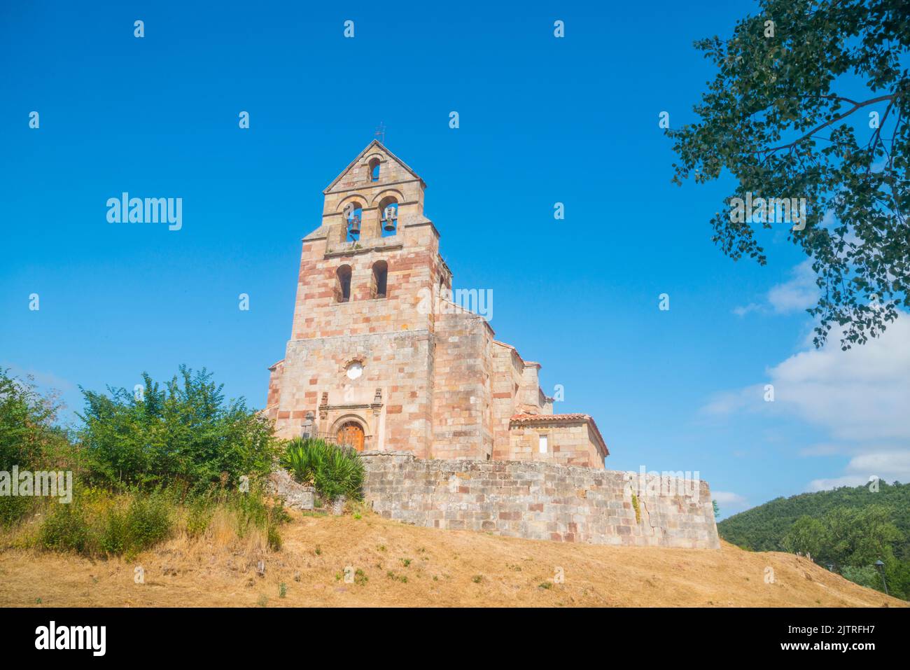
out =
[[[789,498],[775,498],[751,510],[734,514],[717,524],[717,530],[727,542],[758,552],[787,551],[784,535],[801,516],[822,520],[827,513],[839,508],[861,510],[882,505],[888,517],[904,535],[895,553],[910,554],[910,484],[879,482],[878,492],[868,486],[856,486],[801,493]],[[903,550],[903,551],[902,551]]]

